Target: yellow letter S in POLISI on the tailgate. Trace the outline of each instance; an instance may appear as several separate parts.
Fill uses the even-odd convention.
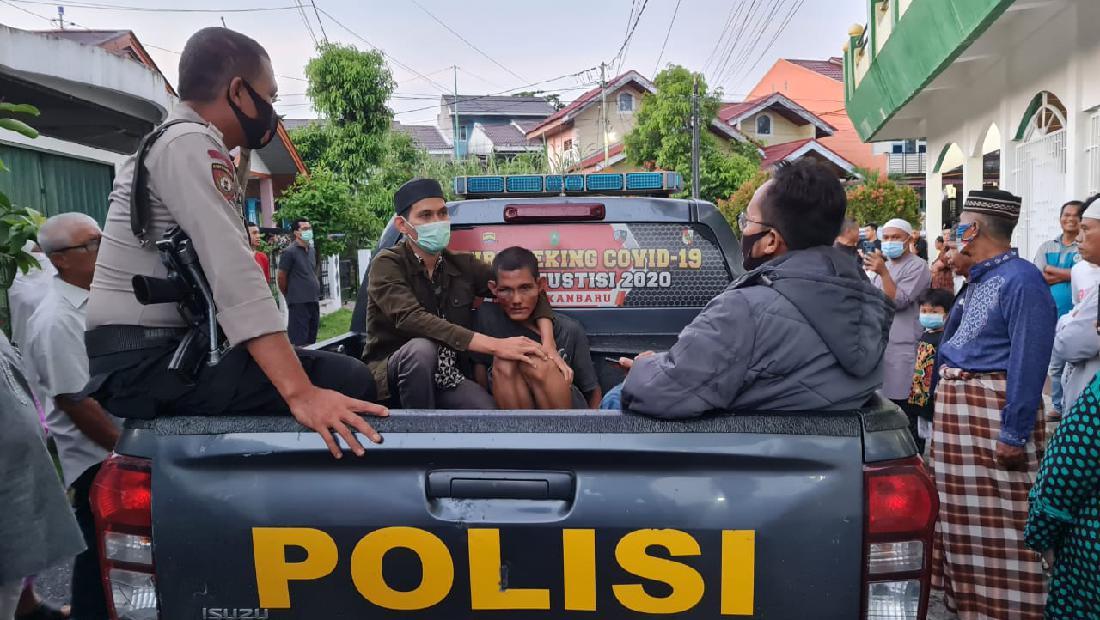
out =
[[[615,585],[612,591],[623,607],[641,613],[682,613],[703,599],[703,577],[697,571],[671,560],[653,557],[650,546],[663,546],[669,555],[698,555],[698,542],[680,530],[638,530],[623,536],[615,546],[615,560],[627,573],[653,582],[664,582],[672,594],[664,598],[650,596],[641,584]]]

